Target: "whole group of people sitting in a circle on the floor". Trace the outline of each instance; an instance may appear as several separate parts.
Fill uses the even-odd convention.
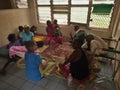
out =
[[[8,48],[20,45],[24,45],[26,47],[27,51],[25,52],[24,59],[27,77],[32,81],[39,81],[42,79],[39,66],[42,69],[46,66],[42,64],[40,55],[35,52],[38,48],[37,44],[33,41],[33,36],[36,34],[36,27],[33,26],[31,28],[32,29],[30,29],[28,25],[25,25],[24,27],[19,26],[18,40],[16,39],[15,34],[9,34],[8,40],[10,43],[8,44]],[[80,30],[78,25],[74,26],[74,30],[75,34],[73,36],[70,33],[72,40],[71,45],[74,51],[69,57],[65,58],[65,62],[60,64],[59,68],[66,78],[71,75],[74,80],[81,82],[88,79],[90,75],[88,58],[83,48],[94,53],[96,48],[107,48],[108,46],[100,37],[94,34],[87,34],[84,30]],[[62,44],[63,37],[60,32],[60,27],[57,24],[57,20],[54,20],[53,23],[51,23],[50,20],[47,21],[46,32],[47,37],[44,42],[45,44]],[[104,53],[105,52],[99,49],[96,51],[96,54],[98,55]],[[65,70],[65,66],[67,64],[69,64],[69,69]],[[67,73],[64,73],[64,71]]]

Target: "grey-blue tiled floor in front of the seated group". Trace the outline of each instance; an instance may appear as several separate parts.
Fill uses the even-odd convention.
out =
[[[0,69],[6,61],[5,58],[0,57]],[[111,71],[107,65],[105,65],[107,70],[105,67],[101,68],[101,73],[104,74],[107,71],[107,77],[111,77]],[[25,69],[15,67],[14,63],[9,65],[5,76],[0,75],[0,90],[76,90],[77,85],[77,83],[72,83],[68,87],[66,80],[54,75],[45,77],[39,82],[29,81],[25,75]],[[95,89],[95,86],[99,87],[99,89]],[[115,90],[115,87],[111,80],[103,78],[97,80],[96,84],[95,82],[87,83],[85,90]]]

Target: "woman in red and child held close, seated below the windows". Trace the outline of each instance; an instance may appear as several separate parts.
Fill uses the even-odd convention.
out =
[[[46,24],[47,37],[45,43],[49,45],[62,43],[63,37],[57,20],[55,19],[53,23],[50,20],[47,20]]]

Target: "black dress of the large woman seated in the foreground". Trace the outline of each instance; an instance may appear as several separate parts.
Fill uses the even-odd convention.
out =
[[[84,78],[89,76],[89,67],[88,60],[84,51],[82,49],[79,51],[81,51],[81,57],[79,58],[79,60],[70,62],[70,73],[73,78],[83,80]]]

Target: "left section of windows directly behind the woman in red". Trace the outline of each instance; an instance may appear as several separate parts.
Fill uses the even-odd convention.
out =
[[[57,19],[59,24],[68,24],[68,0],[37,0],[37,5],[40,23]]]

